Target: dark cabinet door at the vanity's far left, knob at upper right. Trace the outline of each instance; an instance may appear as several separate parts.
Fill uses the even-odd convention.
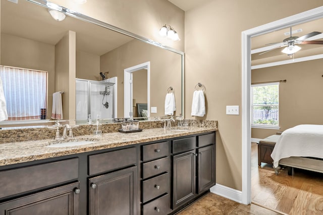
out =
[[[77,182],[1,203],[0,214],[77,215],[79,214],[78,187]]]

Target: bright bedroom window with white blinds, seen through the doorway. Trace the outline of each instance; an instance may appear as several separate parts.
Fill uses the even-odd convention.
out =
[[[279,83],[251,85],[251,127],[279,129]]]

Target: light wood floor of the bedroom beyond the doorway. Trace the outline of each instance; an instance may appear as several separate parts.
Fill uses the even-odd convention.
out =
[[[287,168],[278,175],[272,165],[258,166],[257,145],[251,144],[251,200],[285,214],[323,214],[323,174]]]

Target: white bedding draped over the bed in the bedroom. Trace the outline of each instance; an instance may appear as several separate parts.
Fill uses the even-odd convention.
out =
[[[323,125],[297,125],[285,130],[277,140],[271,157],[275,168],[282,158],[323,159]]]

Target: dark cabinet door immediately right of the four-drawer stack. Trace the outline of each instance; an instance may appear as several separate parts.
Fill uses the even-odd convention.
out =
[[[194,150],[173,156],[173,209],[195,195]]]

